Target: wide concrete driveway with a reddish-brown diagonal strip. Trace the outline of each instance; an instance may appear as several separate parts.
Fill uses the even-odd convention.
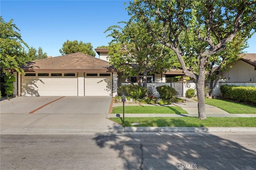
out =
[[[106,119],[112,98],[40,96],[0,102],[1,134],[124,131]]]

